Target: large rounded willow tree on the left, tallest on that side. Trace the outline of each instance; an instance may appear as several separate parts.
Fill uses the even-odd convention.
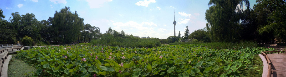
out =
[[[76,41],[84,28],[84,18],[80,18],[76,11],[75,13],[71,12],[69,7],[65,7],[59,12],[55,11],[52,19],[51,27],[56,36],[54,41],[65,43]]]

